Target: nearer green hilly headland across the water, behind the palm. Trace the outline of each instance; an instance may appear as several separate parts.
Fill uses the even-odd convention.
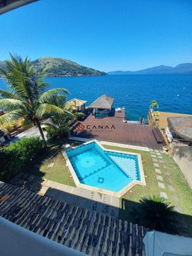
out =
[[[38,58],[37,60],[32,60],[31,63],[34,64],[37,74],[43,68],[48,68],[47,77],[107,75],[105,72],[81,66],[64,58]],[[5,62],[0,61],[0,67],[4,67],[4,65]]]

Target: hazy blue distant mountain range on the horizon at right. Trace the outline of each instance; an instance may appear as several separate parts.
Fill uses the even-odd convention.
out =
[[[108,75],[134,75],[134,74],[192,74],[192,63],[179,64],[176,67],[172,66],[157,66],[146,68],[138,71],[112,71],[107,72]]]

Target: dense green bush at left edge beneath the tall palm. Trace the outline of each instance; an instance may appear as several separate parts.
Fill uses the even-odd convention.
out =
[[[23,138],[2,148],[0,151],[1,181],[9,181],[13,175],[22,171],[42,148],[43,142],[39,137]]]

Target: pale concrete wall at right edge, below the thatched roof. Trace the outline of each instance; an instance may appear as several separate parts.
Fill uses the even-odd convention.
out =
[[[173,158],[180,167],[192,189],[192,146],[174,148]]]

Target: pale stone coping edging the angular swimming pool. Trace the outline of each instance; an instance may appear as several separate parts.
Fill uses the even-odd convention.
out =
[[[142,185],[142,186],[146,186],[144,168],[143,168],[143,164],[142,164],[142,156],[140,154],[132,153],[132,152],[125,152],[125,151],[121,151],[121,150],[106,149],[96,139],[89,140],[88,142],[83,143],[81,146],[86,145],[86,144],[90,144],[92,142],[96,142],[96,144],[98,144],[98,146],[100,146],[100,148],[102,148],[102,150],[107,151],[107,152],[116,152],[116,153],[121,153],[121,154],[128,154],[128,155],[137,156],[138,157],[138,165],[139,165],[139,168],[140,168],[140,179],[141,179],[141,181],[134,180],[134,181],[130,182],[129,184],[127,184],[119,192],[113,192],[111,190],[106,190],[104,188],[96,188],[95,186],[89,186],[89,185],[86,185],[86,184],[82,184],[79,181],[79,179],[78,179],[78,177],[75,173],[75,170],[73,169],[73,166],[71,165],[71,162],[69,161],[69,158],[66,154],[66,151],[63,151],[62,153],[63,153],[64,158],[66,160],[66,165],[69,167],[69,171],[71,172],[71,175],[73,177],[73,180],[74,180],[75,185],[77,186],[77,188],[84,188],[84,189],[91,190],[91,191],[94,191],[94,192],[98,192],[98,193],[101,193],[101,194],[106,194],[106,195],[109,195],[109,196],[114,196],[116,198],[121,198],[126,192],[128,192],[128,190],[130,190],[131,188],[133,188],[137,184]],[[78,147],[79,146],[75,146],[75,147],[73,147],[73,149],[78,148]]]

